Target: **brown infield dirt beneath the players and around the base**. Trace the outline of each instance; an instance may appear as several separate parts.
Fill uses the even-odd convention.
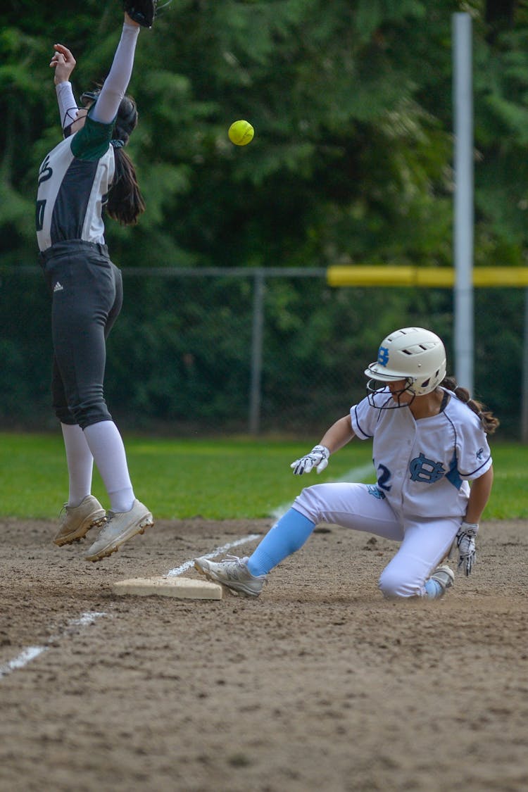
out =
[[[528,524],[482,524],[439,601],[383,600],[397,546],[324,526],[257,600],[112,593],[271,524],[160,521],[93,565],[0,521],[2,792],[526,792]]]

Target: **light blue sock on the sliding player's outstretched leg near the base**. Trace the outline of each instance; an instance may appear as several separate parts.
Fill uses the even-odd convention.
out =
[[[270,569],[298,550],[315,527],[312,520],[294,508],[284,514],[270,528],[255,552],[249,557],[248,569],[252,575],[265,575]]]

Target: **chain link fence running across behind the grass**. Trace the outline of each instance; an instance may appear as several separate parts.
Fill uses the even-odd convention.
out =
[[[332,288],[321,268],[123,268],[123,280],[106,396],[116,421],[139,430],[317,436],[363,398],[379,342],[405,325],[434,329],[453,360],[447,289]],[[506,291],[476,293],[476,395],[519,436],[523,295]],[[484,333],[491,312],[496,333]],[[51,354],[38,268],[3,268],[4,426],[55,425]]]

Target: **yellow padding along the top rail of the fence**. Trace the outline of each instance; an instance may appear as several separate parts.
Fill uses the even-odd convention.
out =
[[[394,267],[391,265],[335,265],[327,268],[329,286],[454,287],[451,267]],[[528,267],[475,267],[475,287],[528,287]]]

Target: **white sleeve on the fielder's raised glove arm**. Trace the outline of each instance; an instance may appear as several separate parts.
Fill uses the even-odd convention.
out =
[[[104,80],[97,102],[93,105],[93,111],[89,114],[90,118],[100,124],[111,124],[116,118],[120,101],[127,91],[132,76],[138,36],[139,27],[127,25],[126,22],[123,24],[120,43],[117,45],[112,67],[108,77]]]

